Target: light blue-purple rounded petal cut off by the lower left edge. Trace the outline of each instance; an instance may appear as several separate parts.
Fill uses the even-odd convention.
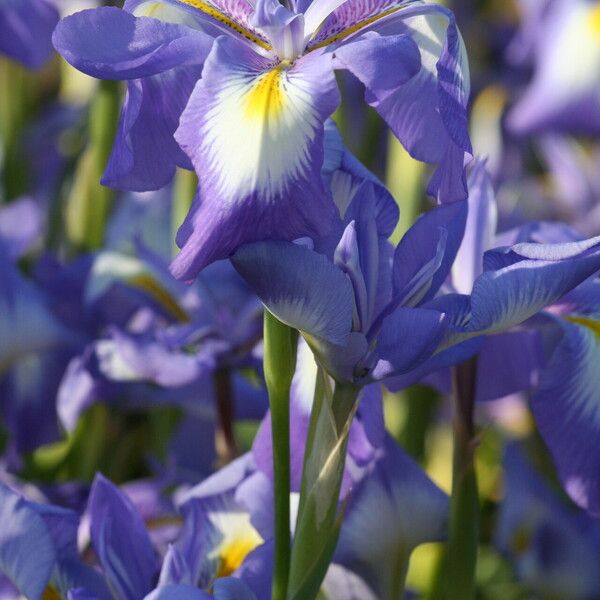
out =
[[[56,550],[31,503],[0,483],[0,571],[30,600],[40,600],[56,563]]]

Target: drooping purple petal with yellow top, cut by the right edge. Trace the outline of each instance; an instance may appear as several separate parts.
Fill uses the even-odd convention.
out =
[[[600,514],[600,340],[595,318],[557,322],[563,338],[531,400],[536,423],[571,498]]]

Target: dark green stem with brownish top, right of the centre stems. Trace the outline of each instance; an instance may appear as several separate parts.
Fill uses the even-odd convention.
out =
[[[479,541],[479,496],[475,473],[473,409],[476,359],[454,369],[454,453],[448,538],[448,600],[475,598],[475,567]]]

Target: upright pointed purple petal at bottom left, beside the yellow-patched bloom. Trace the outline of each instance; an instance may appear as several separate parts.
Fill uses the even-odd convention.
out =
[[[96,475],[88,510],[92,542],[109,587],[124,600],[145,597],[157,568],[148,532],[133,503]]]

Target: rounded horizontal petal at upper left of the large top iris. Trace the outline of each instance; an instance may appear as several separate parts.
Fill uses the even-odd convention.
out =
[[[139,79],[183,65],[201,65],[213,38],[114,7],[63,19],[54,46],[76,69],[98,79]]]

